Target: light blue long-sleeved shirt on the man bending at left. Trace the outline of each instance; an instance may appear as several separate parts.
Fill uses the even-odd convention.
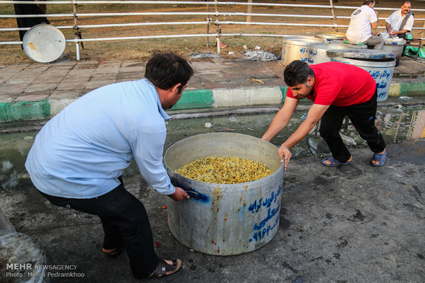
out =
[[[169,116],[147,79],[93,90],[65,107],[36,135],[25,167],[36,188],[62,198],[95,198],[119,185],[132,158],[162,194],[175,187],[162,165]]]

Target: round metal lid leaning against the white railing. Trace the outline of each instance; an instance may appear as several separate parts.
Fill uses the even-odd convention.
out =
[[[65,50],[65,37],[53,25],[34,25],[23,36],[23,50],[36,62],[49,63],[60,57]]]

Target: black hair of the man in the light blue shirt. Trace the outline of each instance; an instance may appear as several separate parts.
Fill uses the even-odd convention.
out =
[[[145,78],[149,79],[156,87],[169,90],[174,85],[181,83],[179,92],[193,76],[191,65],[182,57],[174,53],[161,53],[155,51],[146,64]]]

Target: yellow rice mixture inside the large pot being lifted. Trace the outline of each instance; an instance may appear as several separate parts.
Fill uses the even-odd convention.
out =
[[[175,172],[186,178],[215,184],[246,183],[273,174],[265,165],[239,157],[197,159]]]

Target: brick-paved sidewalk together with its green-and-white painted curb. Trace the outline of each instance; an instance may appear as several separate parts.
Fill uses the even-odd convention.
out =
[[[0,122],[50,118],[90,90],[140,79],[145,63],[69,60],[0,66]],[[211,58],[193,61],[191,65],[195,75],[176,109],[280,103],[286,90],[284,66],[280,62]],[[402,57],[395,68],[389,95],[424,93],[425,64]]]

